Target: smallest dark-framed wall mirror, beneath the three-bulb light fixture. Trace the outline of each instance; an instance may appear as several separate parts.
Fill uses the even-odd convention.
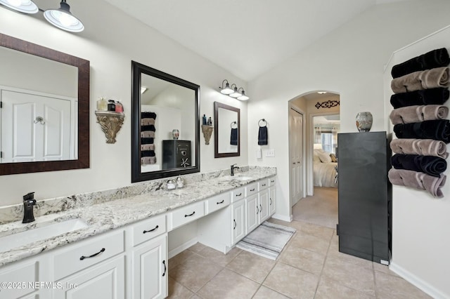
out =
[[[240,109],[214,102],[214,158],[240,156]]]

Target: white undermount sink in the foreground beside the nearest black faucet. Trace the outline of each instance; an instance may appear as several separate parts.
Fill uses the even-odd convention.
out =
[[[88,227],[88,224],[79,218],[75,218],[54,222],[51,225],[30,228],[23,232],[0,237],[0,252],[9,251],[13,248],[31,244],[35,241],[56,237],[67,232],[80,230],[84,227]]]

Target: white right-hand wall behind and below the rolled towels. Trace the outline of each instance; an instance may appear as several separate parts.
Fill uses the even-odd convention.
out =
[[[384,75],[386,116],[392,111],[392,67],[436,48],[450,49],[450,27],[394,53]],[[445,105],[450,107],[450,101]],[[392,133],[391,124],[389,132]],[[447,169],[444,174],[448,176],[450,171]],[[449,180],[442,192],[444,198],[435,199],[425,191],[392,186],[391,269],[434,298],[450,298]]]

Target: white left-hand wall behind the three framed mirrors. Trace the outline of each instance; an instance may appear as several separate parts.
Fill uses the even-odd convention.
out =
[[[58,6],[50,0],[37,4],[42,8]],[[23,194],[30,191],[36,192],[37,199],[47,199],[131,185],[131,60],[200,85],[201,115],[213,116],[214,101],[239,107],[241,138],[247,140],[247,103],[217,91],[224,79],[247,90],[244,81],[104,1],[72,1],[70,8],[86,27],[80,34],[49,25],[42,13],[30,16],[4,8],[0,9],[1,33],[90,60],[91,167],[0,176],[1,206],[20,204]],[[101,96],[120,100],[124,105],[124,125],[113,145],[106,144],[96,124],[94,110]],[[225,169],[233,163],[248,165],[246,142],[240,150],[240,157],[214,159],[214,140],[205,145],[200,132],[200,171]]]

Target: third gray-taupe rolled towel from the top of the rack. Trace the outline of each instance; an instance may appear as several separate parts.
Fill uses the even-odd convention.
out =
[[[393,139],[390,142],[392,152],[396,154],[421,154],[447,159],[449,153],[444,141],[433,139]]]

